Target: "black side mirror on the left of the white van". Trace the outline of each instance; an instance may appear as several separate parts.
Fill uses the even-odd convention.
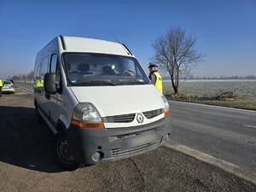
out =
[[[44,90],[49,94],[55,94],[57,92],[55,73],[45,73],[45,75],[44,75]]]

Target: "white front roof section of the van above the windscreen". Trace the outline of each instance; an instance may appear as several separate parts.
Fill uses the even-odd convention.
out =
[[[66,51],[91,52],[114,55],[132,55],[125,44],[95,38],[79,38],[69,36],[59,36],[62,48]]]

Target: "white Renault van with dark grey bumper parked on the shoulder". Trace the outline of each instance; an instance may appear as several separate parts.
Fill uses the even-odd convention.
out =
[[[63,37],[38,52],[34,104],[66,170],[143,154],[171,133],[168,102],[124,44]]]

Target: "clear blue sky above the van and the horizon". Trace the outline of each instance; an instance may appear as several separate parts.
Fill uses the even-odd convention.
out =
[[[256,75],[255,0],[0,0],[0,77],[27,74],[58,35],[126,44],[148,73],[152,43],[169,27],[207,55],[195,77]]]

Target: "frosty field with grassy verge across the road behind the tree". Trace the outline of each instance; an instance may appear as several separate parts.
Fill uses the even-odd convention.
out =
[[[171,81],[164,80],[163,89],[166,96],[171,96],[173,93]],[[211,99],[224,92],[234,93],[237,99],[225,102]],[[189,102],[256,110],[256,80],[187,80],[181,82],[179,94],[183,95],[182,100]]]

